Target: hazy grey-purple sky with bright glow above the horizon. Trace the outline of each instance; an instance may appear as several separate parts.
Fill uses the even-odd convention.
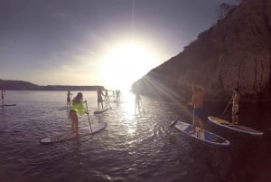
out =
[[[129,87],[237,0],[0,0],[0,79]]]

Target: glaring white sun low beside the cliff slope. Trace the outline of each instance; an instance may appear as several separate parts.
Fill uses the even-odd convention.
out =
[[[154,53],[144,43],[121,43],[111,47],[103,60],[102,77],[107,87],[128,90],[154,66]]]

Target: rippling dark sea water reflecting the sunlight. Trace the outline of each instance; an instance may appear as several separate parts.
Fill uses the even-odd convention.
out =
[[[83,94],[91,123],[105,121],[107,128],[94,136],[41,145],[43,137],[70,129],[69,112],[62,110],[66,92],[6,91],[5,103],[17,105],[0,108],[1,182],[271,181],[268,135],[255,139],[206,122],[206,129],[232,144],[210,147],[170,127],[174,119],[191,122],[191,110],[181,105],[144,98],[145,114],[139,116],[134,112],[134,97],[128,95],[125,102],[110,102],[112,109],[96,116],[92,114],[97,108],[96,93]],[[218,115],[223,107],[210,108],[205,114]],[[251,111],[244,106],[243,118],[250,127],[267,132],[271,128],[267,109]],[[79,117],[79,126],[89,126],[87,115]]]

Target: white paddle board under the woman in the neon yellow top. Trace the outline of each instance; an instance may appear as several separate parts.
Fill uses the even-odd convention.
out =
[[[61,142],[61,141],[66,141],[70,139],[78,139],[81,137],[85,137],[87,135],[92,135],[97,133],[98,131],[105,129],[107,127],[106,122],[100,122],[91,125],[92,133],[90,131],[90,128],[81,128],[79,129],[79,135],[76,135],[76,133],[72,133],[71,130],[63,132],[61,134],[58,134],[56,136],[52,137],[46,137],[44,139],[40,140],[41,144],[50,144],[50,143],[56,143],[56,142]]]

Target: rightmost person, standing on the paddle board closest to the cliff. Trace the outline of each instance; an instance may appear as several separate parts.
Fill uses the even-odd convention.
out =
[[[231,123],[238,125],[238,111],[239,111],[239,101],[240,94],[237,88],[233,89],[232,94],[232,119]]]

